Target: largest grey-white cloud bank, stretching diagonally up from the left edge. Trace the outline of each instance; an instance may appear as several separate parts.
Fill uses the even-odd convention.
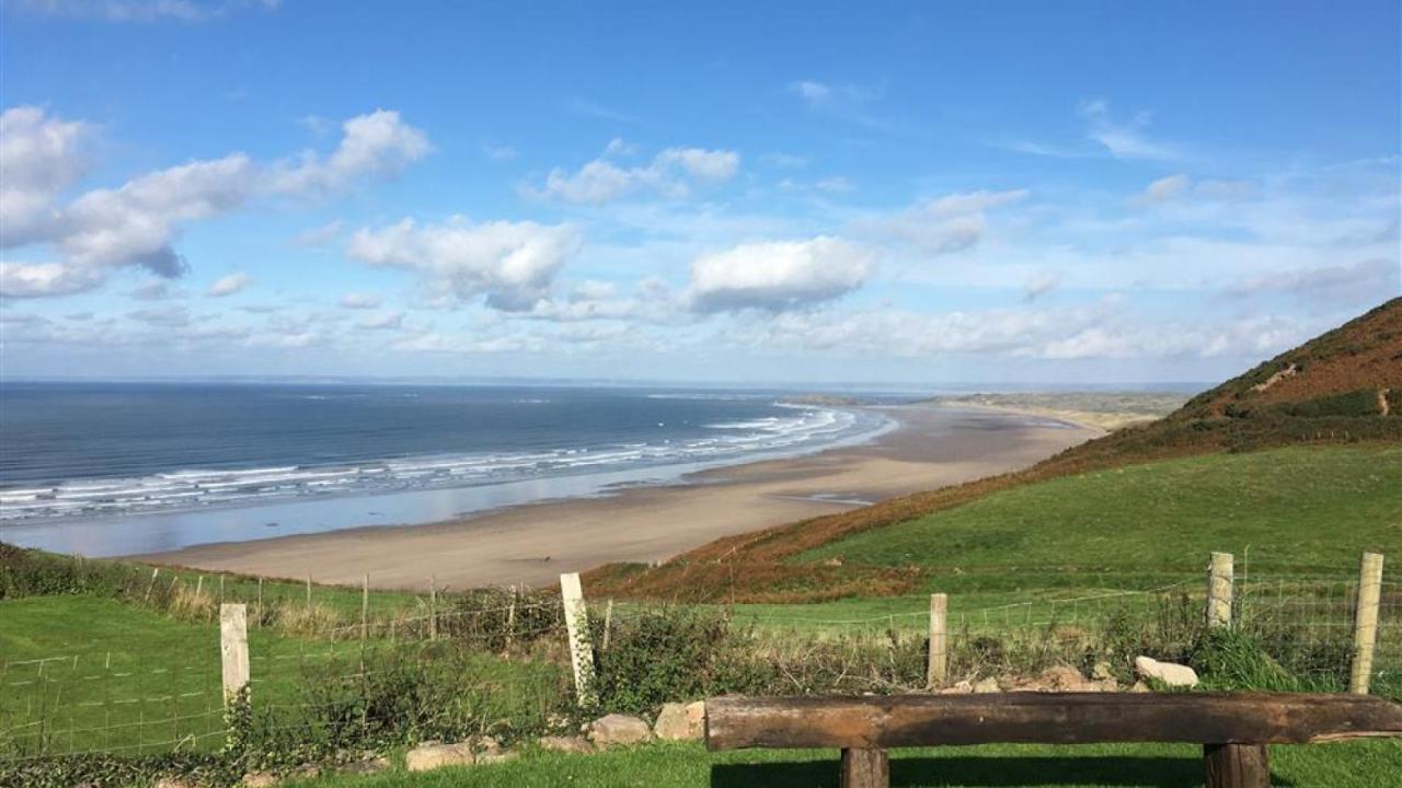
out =
[[[32,107],[6,111],[0,126],[0,243],[48,244],[57,252],[52,261],[3,264],[0,296],[15,297],[88,290],[126,266],[177,278],[188,268],[174,247],[181,227],[261,196],[325,196],[359,177],[393,175],[428,150],[422,132],[395,112],[377,111],[346,121],[343,139],[325,160],[307,153],[261,167],[233,153],[147,172],[59,205],[84,171],[76,144],[86,126]]]

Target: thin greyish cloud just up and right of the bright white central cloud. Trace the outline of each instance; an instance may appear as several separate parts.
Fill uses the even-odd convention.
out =
[[[890,216],[861,222],[871,234],[893,238],[931,254],[953,254],[979,244],[988,230],[987,213],[1019,202],[1026,189],[977,191],[927,199]]]

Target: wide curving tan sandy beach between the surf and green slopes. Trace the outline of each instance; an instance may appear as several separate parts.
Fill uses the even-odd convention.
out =
[[[423,526],[191,547],[140,559],[377,587],[548,585],[610,561],[660,561],[715,538],[1029,466],[1095,437],[1088,425],[917,404],[859,446],[702,471],[686,484],[557,501]]]

